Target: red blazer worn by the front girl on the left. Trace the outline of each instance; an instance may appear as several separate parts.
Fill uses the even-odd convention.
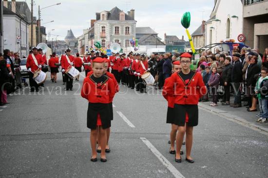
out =
[[[97,85],[91,79],[92,75],[93,73],[84,79],[81,89],[81,96],[87,99],[90,103],[111,103],[110,101],[113,101],[115,96],[115,86],[113,80],[104,75],[107,78],[106,81],[101,85]]]

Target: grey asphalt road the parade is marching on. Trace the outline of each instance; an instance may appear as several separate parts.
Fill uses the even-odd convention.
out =
[[[83,77],[73,91],[64,91],[58,76],[57,84],[48,76],[39,93],[17,91],[0,108],[0,178],[268,177],[268,135],[204,109],[194,127],[195,162],[183,155],[176,163],[161,92],[140,94],[124,86],[115,95],[108,161],[91,162]]]

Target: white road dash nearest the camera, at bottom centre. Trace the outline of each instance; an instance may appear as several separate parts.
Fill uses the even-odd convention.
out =
[[[172,163],[167,160],[154,146],[151,142],[149,142],[146,138],[140,138],[146,146],[153,152],[153,154],[162,162],[164,166],[168,168],[168,170],[172,173],[175,178],[184,178],[184,176],[172,165]]]

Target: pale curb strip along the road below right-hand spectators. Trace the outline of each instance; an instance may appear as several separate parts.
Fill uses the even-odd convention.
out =
[[[228,117],[230,119],[234,119],[238,122],[241,122],[243,123],[244,125],[248,125],[249,127],[253,127],[253,128],[256,128],[256,129],[259,129],[261,131],[264,131],[266,133],[268,133],[268,128],[264,127],[264,126],[261,126],[261,125],[256,125],[252,122],[249,122],[247,121],[246,119],[243,119],[239,116],[236,116],[236,115],[233,115],[233,114],[230,114],[228,111],[225,111],[225,110],[221,110],[221,109],[218,109],[218,108],[214,108],[213,107],[213,110],[212,108],[210,109],[209,106],[205,105],[205,104],[202,104],[202,103],[198,103],[198,107],[202,107],[204,110],[207,110],[209,112],[214,112],[220,116],[223,116],[223,117]]]

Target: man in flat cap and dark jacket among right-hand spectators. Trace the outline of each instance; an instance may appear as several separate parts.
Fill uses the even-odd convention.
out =
[[[234,89],[234,103],[230,107],[241,107],[241,91],[240,85],[242,82],[242,64],[240,62],[241,55],[239,53],[233,54],[233,68],[231,71],[232,87]]]

